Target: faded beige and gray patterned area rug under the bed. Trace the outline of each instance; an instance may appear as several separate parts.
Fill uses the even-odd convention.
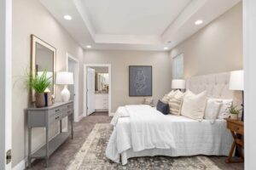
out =
[[[207,156],[154,156],[131,158],[125,166],[108,160],[105,150],[113,131],[109,124],[96,124],[68,170],[219,170]]]

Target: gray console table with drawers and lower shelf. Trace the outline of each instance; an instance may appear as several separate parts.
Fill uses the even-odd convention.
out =
[[[46,167],[48,167],[49,156],[63,144],[70,133],[62,132],[61,120],[64,117],[68,117],[71,122],[71,136],[73,139],[73,101],[55,103],[49,107],[42,108],[28,108],[27,109],[27,127],[28,127],[28,167],[31,167],[32,158],[42,159],[46,161]],[[54,139],[49,140],[49,126],[54,122],[60,122],[60,133],[55,136]],[[33,127],[45,127],[46,130],[46,144],[39,150],[36,150],[32,154],[32,128]]]

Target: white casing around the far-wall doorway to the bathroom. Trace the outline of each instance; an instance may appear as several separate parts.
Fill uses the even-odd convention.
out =
[[[108,116],[111,116],[111,94],[112,94],[112,85],[111,85],[111,65],[110,64],[85,64],[84,65],[84,116],[87,116],[87,67],[90,66],[99,66],[99,67],[108,67],[108,77],[109,77],[109,88],[108,88]]]

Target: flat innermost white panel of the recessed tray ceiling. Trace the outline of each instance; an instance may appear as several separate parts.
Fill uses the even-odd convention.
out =
[[[160,36],[190,0],[82,0],[98,34]],[[175,5],[174,5],[175,4]]]

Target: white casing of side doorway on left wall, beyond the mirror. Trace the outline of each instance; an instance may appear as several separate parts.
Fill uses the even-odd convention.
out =
[[[79,59],[76,59],[75,57],[73,57],[71,54],[67,53],[67,57],[66,57],[66,65],[67,65],[67,71],[68,71],[68,60],[71,59],[73,60],[76,64],[75,67],[75,80],[74,80],[74,84],[75,84],[75,103],[74,103],[74,122],[79,122]]]

